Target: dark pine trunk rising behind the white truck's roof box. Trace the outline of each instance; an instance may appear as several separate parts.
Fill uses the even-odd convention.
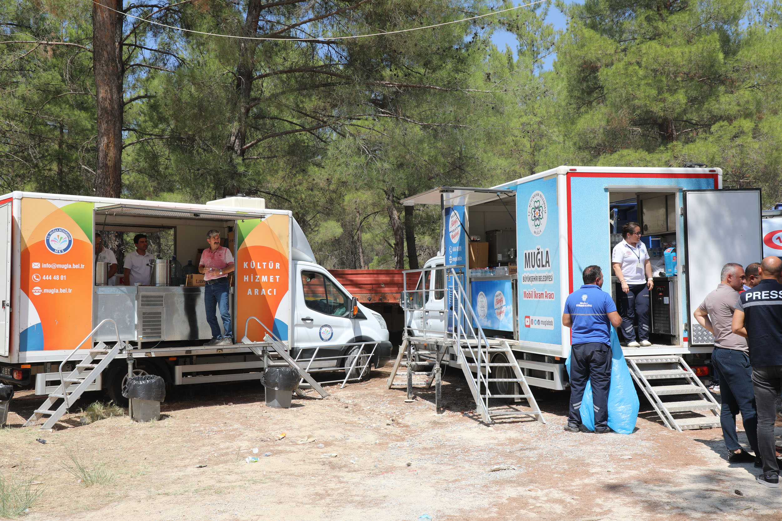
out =
[[[255,37],[260,20],[260,8],[264,0],[249,0],[247,3],[247,16],[245,17],[244,36]],[[249,98],[253,90],[253,73],[255,71],[256,41],[239,41],[239,64],[236,66],[236,112],[234,124],[231,128],[231,137],[228,138],[228,148],[233,152],[233,161],[243,161],[244,145],[247,141],[246,120],[249,113]],[[226,195],[235,195],[239,192],[239,172],[234,168],[231,186],[227,187]]]

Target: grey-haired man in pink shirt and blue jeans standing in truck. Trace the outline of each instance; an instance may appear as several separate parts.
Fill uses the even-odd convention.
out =
[[[201,254],[198,270],[203,273],[203,281],[206,284],[204,307],[206,322],[212,330],[212,340],[204,345],[231,345],[234,341],[231,329],[231,287],[228,285],[228,273],[236,267],[234,256],[231,255],[231,250],[220,245],[220,232],[217,230],[206,232],[206,243],[209,244],[209,248]],[[220,309],[224,334],[220,332],[215,308]]]

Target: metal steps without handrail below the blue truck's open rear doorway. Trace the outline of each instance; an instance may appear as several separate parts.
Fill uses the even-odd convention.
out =
[[[626,361],[633,380],[669,429],[681,432],[720,426],[721,405],[681,356],[627,356]],[[691,398],[683,398],[687,395]],[[664,396],[671,399],[663,400]],[[705,416],[682,418],[682,413]]]

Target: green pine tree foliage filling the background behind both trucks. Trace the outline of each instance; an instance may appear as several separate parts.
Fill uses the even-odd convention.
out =
[[[401,198],[560,164],[705,162],[723,168],[727,187],[762,187],[766,205],[782,199],[780,0],[560,0],[341,41],[322,38],[421,27],[511,2],[165,5],[155,16],[174,27],[321,39],[219,38],[126,20],[123,196],[264,197],[294,213],[327,267],[425,260],[439,248],[438,209],[406,216]],[[258,23],[246,18],[253,5]],[[549,9],[569,16],[566,30],[545,22]],[[67,44],[2,47],[2,191],[91,193],[90,14],[85,0],[0,0],[5,41]],[[500,29],[515,35],[515,49],[492,45]],[[553,70],[543,70],[554,53]],[[398,259],[403,222],[415,251]]]

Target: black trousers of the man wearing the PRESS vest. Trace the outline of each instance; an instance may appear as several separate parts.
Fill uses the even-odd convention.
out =
[[[782,391],[782,366],[752,367],[752,384],[758,407],[758,451],[763,459],[763,473],[779,474],[774,421],[777,419],[777,396]]]

